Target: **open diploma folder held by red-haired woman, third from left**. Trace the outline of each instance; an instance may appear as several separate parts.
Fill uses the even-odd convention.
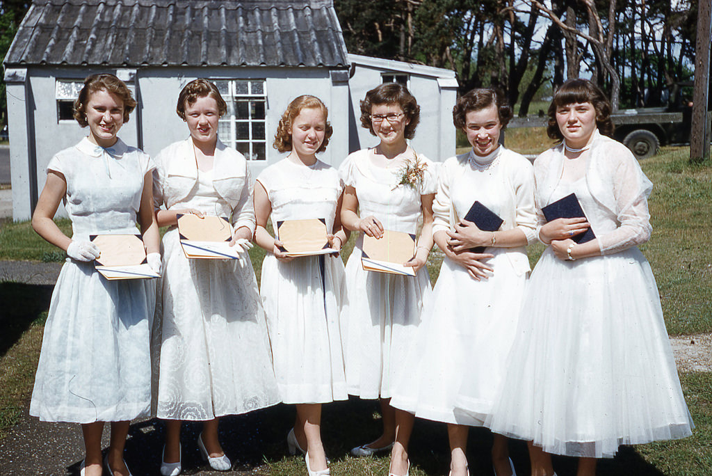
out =
[[[326,220],[323,218],[289,219],[277,222],[277,239],[282,251],[290,257],[336,253],[326,237]]]

